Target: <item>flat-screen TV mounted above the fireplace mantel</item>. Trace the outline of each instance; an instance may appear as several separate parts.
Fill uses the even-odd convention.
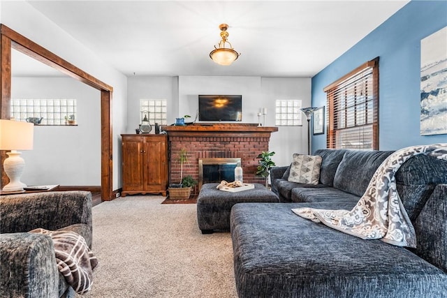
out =
[[[199,95],[199,121],[242,121],[242,95]]]

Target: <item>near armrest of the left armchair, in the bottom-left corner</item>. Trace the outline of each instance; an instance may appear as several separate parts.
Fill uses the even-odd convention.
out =
[[[0,234],[3,297],[59,297],[59,271],[50,236]]]

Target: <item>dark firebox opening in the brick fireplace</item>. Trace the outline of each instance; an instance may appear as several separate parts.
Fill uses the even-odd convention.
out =
[[[235,180],[235,167],[240,158],[199,158],[198,188],[205,183],[219,183],[222,180]]]

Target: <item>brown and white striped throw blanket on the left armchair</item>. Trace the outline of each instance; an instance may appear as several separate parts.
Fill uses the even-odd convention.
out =
[[[50,231],[42,228],[29,231],[31,233],[50,235],[54,242],[57,268],[64,275],[66,282],[78,294],[85,294],[93,283],[92,270],[98,259],[90,251],[84,237],[72,231]]]

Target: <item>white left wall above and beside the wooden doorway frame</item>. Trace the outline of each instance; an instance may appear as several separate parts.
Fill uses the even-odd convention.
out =
[[[54,52],[78,68],[113,87],[113,189],[121,182],[121,137],[126,125],[127,78],[112,68],[101,57],[75,40],[56,24],[25,1],[1,1],[0,20],[2,24],[33,40],[38,45]],[[98,114],[99,117],[99,114]],[[80,158],[83,158],[80,156]]]

